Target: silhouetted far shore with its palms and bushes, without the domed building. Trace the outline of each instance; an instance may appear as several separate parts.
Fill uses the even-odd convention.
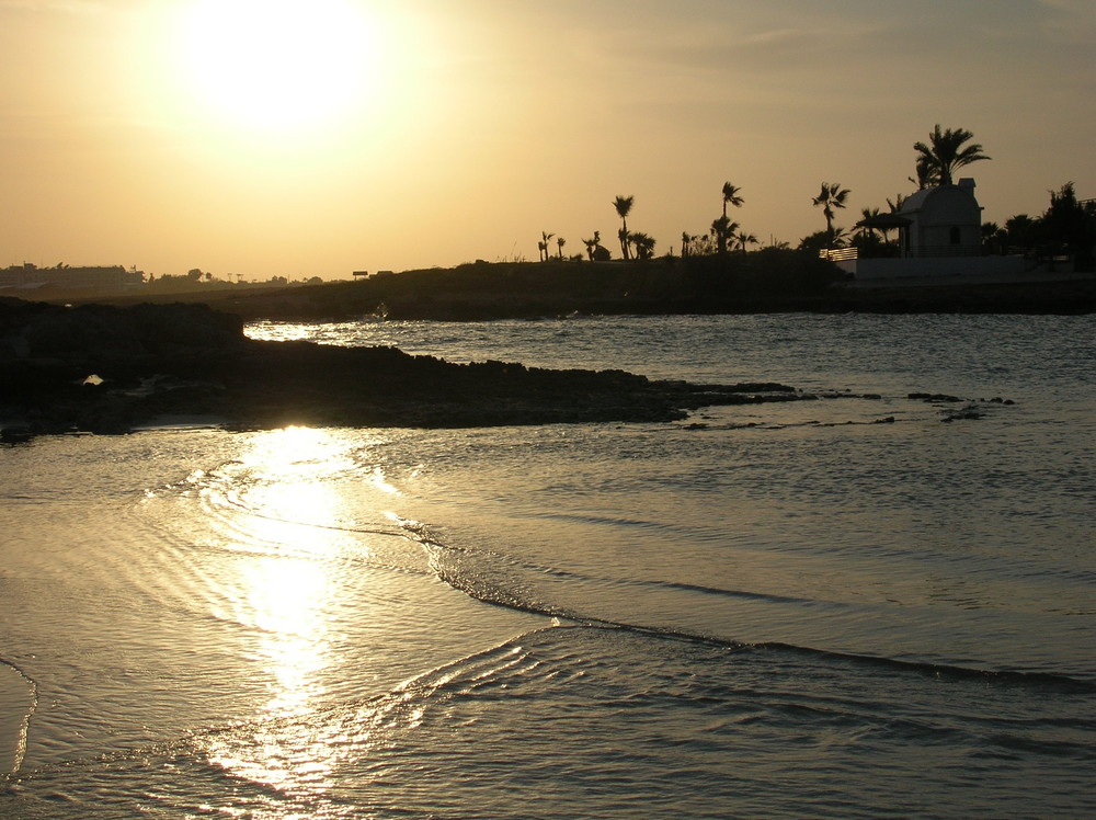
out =
[[[973,134],[963,128],[937,125],[927,141],[913,144],[920,186],[945,185],[973,162],[989,160]],[[898,194],[879,206],[861,207],[854,229],[837,223],[850,204],[852,191],[840,182],[823,182],[811,203],[820,208],[825,228],[803,237],[796,247],[770,239],[757,247],[750,232],[731,213],[746,212],[742,189],[730,181],[719,189],[718,209],[703,232],[685,230],[680,254],[674,244],[661,255],[651,235],[632,230],[629,219],[637,208],[635,195],[612,200],[619,219],[619,258],[602,241],[601,230],[582,238],[583,252],[566,253],[568,240],[543,229],[539,259],[523,257],[488,262],[477,260],[447,269],[424,269],[369,274],[357,271],[354,282],[322,283],[318,277],[293,281],[272,276],[265,282],[243,283],[231,274],[218,275],[194,267],[179,276],[148,276],[129,293],[78,293],[44,287],[35,297],[77,301],[204,301],[218,309],[259,318],[389,318],[494,319],[503,317],[560,316],[570,312],[676,314],[751,312],[786,310],[998,310],[1078,312],[1092,310],[1091,293],[1078,293],[1084,283],[1070,285],[1069,296],[1039,285],[997,286],[982,294],[972,286],[950,285],[904,293],[900,283],[874,293],[834,287],[847,276],[821,255],[853,248],[860,257],[898,255],[893,220],[904,196]],[[715,197],[713,197],[715,200]],[[982,251],[986,254],[1024,254],[1071,270],[1092,271],[1096,244],[1096,201],[1078,200],[1072,182],[1050,192],[1050,205],[1041,215],[1019,214],[1003,226],[982,226]],[[33,265],[31,266],[33,267]],[[2,272],[0,272],[2,273]],[[233,281],[235,280],[235,281]],[[0,284],[3,284],[0,282]],[[1041,288],[1041,289],[1040,289]],[[9,291],[9,293],[14,293]],[[1020,296],[1019,294],[1024,294]]]

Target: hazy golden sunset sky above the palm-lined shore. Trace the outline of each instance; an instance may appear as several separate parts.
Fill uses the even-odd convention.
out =
[[[0,266],[347,278],[541,232],[763,243],[915,189],[934,125],[986,221],[1096,197],[1092,0],[0,0]],[[553,250],[557,246],[553,241]]]

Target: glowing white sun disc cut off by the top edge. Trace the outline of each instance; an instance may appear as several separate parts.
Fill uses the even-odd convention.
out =
[[[260,132],[359,114],[380,82],[375,21],[353,0],[193,0],[180,9],[185,84],[217,118]]]

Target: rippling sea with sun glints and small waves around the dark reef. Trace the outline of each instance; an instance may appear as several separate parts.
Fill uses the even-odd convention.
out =
[[[1096,316],[247,332],[811,398],[4,445],[0,817],[1096,817]]]

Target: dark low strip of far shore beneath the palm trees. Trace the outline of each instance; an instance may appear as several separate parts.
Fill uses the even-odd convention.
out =
[[[580,315],[1096,312],[1096,274],[850,281],[797,252],[641,263],[477,262],[294,287],[224,283],[134,294],[53,294],[53,304],[201,304],[244,321],[490,321]],[[770,258],[769,258],[770,257]],[[46,296],[46,294],[39,295]],[[0,297],[2,300],[2,297]]]

